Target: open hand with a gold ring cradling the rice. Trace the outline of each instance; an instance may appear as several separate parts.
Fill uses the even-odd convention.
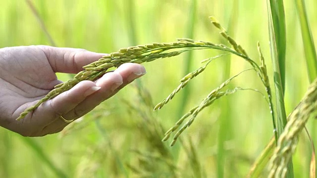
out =
[[[43,45],[0,48],[0,126],[23,136],[58,133],[69,124],[60,116],[66,120],[78,119],[146,73],[140,64],[123,64],[97,82],[82,81],[42,103],[23,120],[15,120],[61,83],[55,72],[78,73],[82,66],[103,55]]]

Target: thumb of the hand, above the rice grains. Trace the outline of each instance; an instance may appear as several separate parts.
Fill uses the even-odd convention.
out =
[[[90,64],[106,55],[85,49],[52,47],[39,45],[43,50],[54,72],[78,73],[83,66]]]

